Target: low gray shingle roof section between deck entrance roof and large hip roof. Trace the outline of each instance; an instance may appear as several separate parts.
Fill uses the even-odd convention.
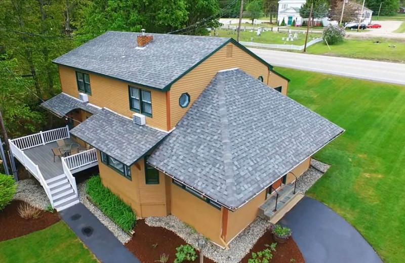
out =
[[[106,108],[70,130],[70,133],[126,165],[133,164],[168,133],[137,125]]]

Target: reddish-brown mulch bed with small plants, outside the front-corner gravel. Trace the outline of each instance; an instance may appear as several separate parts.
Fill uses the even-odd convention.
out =
[[[247,263],[251,253],[268,248],[265,244],[273,241],[270,231],[267,231],[253,246],[252,250],[241,260]],[[169,255],[169,261],[173,262],[176,254],[176,247],[185,245],[186,242],[172,231],[165,228],[149,227],[144,220],[138,220],[133,238],[126,244],[126,247],[134,253],[143,263],[155,263],[160,254]],[[297,244],[290,238],[284,244],[277,244],[276,251],[273,252],[271,263],[291,263],[294,258],[296,263],[304,263],[304,258]],[[194,262],[199,262],[197,258]],[[215,263],[209,258],[204,258],[205,263]]]

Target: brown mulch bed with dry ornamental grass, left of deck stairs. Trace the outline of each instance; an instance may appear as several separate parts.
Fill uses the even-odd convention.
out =
[[[60,220],[58,213],[41,211],[41,216],[36,219],[24,219],[17,211],[17,207],[24,201],[13,200],[0,211],[0,241],[20,237],[29,233],[45,229]]]

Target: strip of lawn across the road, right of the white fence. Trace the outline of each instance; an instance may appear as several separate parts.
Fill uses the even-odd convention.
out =
[[[379,41],[380,43],[375,43]],[[389,48],[388,45],[395,45]],[[394,62],[405,61],[405,41],[385,39],[345,39],[337,45],[328,46],[323,43],[316,43],[307,49],[309,54],[328,55],[335,57],[348,57],[358,59],[386,60]]]

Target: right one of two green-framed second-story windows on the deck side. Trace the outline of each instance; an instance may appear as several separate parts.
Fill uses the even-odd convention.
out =
[[[129,87],[130,108],[135,112],[142,113],[146,116],[152,116],[152,96],[150,91]]]

